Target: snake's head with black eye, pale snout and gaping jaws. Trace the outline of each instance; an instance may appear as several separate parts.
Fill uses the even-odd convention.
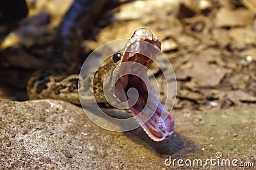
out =
[[[175,128],[173,117],[152,91],[147,75],[148,68],[159,52],[159,39],[149,29],[142,28],[134,32],[122,53],[113,55],[116,65],[123,64],[113,72],[112,79],[118,79],[115,84],[115,96],[121,102],[128,101],[129,113],[154,141],[166,139],[172,135]],[[124,73],[127,70],[130,70],[130,73]],[[136,102],[129,102],[129,98],[132,98],[128,94],[131,88],[137,91]],[[162,114],[165,116],[161,116]]]

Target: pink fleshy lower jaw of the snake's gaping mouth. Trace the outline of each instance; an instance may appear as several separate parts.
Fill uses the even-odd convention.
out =
[[[140,86],[138,86],[138,84],[140,84]],[[161,141],[163,139],[166,139],[173,133],[175,127],[174,120],[172,116],[170,116],[168,111],[164,109],[163,105],[158,100],[156,100],[156,98],[147,98],[148,92],[145,91],[144,87],[145,83],[141,81],[140,78],[134,75],[131,75],[129,77],[127,89],[136,88],[139,92],[138,101],[134,106],[129,109],[129,111],[131,112],[132,116],[136,116],[141,112],[140,116],[136,117],[136,120],[140,123],[140,125],[142,125],[144,130],[154,141]],[[143,112],[143,109],[147,102],[149,102],[149,105],[151,105],[153,109],[151,109],[150,107],[147,109],[148,112]],[[155,111],[154,108],[156,108]],[[160,121],[160,116],[162,112],[168,114],[167,118],[164,121]]]

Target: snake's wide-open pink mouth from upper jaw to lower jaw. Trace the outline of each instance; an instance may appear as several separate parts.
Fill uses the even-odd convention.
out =
[[[141,41],[153,44],[155,47],[153,49],[145,47],[145,45],[142,45],[142,48],[140,41],[129,44],[124,52],[122,63],[133,61],[148,68],[153,62],[152,59],[156,58],[157,51],[161,50],[161,43],[158,40],[154,40],[154,38],[150,38],[151,40],[145,38],[144,41]],[[134,49],[136,49],[136,52],[134,52]],[[145,54],[145,50],[147,50],[147,56],[149,55],[151,59],[143,55]],[[124,69],[127,70],[129,68]],[[122,68],[120,70],[122,70]],[[138,72],[137,75],[147,75],[147,69],[139,68],[136,72]],[[129,108],[129,112],[134,116],[136,121],[140,123],[151,139],[154,141],[162,141],[173,133],[175,128],[173,117],[164,109],[152,89],[150,87],[148,88],[145,81],[137,75],[124,75],[120,77],[116,82],[115,95],[119,100],[124,102],[128,98],[128,90],[135,88],[138,91],[138,100],[136,104]],[[145,77],[147,77],[147,81],[149,82],[148,76]],[[164,116],[164,120],[161,120],[161,118],[163,118],[161,114],[166,115]]]

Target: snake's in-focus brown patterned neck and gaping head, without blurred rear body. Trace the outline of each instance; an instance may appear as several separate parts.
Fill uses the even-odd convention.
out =
[[[143,47],[143,49],[140,49],[140,46],[138,46],[138,42],[140,41],[146,41],[148,43],[151,43],[156,47],[156,49],[161,50],[161,42],[156,36],[152,34],[149,29],[137,29],[132,35],[129,42],[125,45],[124,52],[114,54],[112,56],[112,59],[108,61],[106,65],[100,66],[95,74],[89,73],[85,77],[79,77],[79,75],[47,75],[45,77],[40,74],[33,75],[28,82],[27,89],[29,98],[32,100],[52,98],[56,100],[64,100],[73,104],[80,104],[81,100],[83,104],[90,104],[90,102],[93,101],[94,97],[97,103],[107,104],[103,92],[103,82],[104,78],[106,77],[106,73],[108,73],[111,68],[116,66],[115,70],[111,74],[111,79],[107,80],[108,84],[111,84],[111,86],[115,88],[115,91],[117,91],[116,96],[114,95],[116,99],[120,101],[126,100],[127,90],[129,88],[136,88],[139,92],[138,101],[131,108],[127,109],[126,112],[129,112],[131,116],[136,116],[141,112],[143,107],[145,107],[145,103],[147,102],[147,100],[149,100],[152,105],[156,105],[157,107],[156,111],[154,111],[153,116],[145,124],[141,123],[141,120],[143,120],[143,118],[137,118],[136,120],[138,121],[138,123],[140,123],[141,127],[143,127],[148,136],[154,141],[162,141],[166,139],[173,133],[173,130],[175,128],[174,120],[172,116],[168,114],[167,118],[164,121],[159,121],[161,112],[167,111],[166,109],[164,109],[163,105],[158,102],[158,100],[155,100],[155,98],[148,98],[148,96],[150,96],[148,95],[148,93],[152,93],[152,91],[147,91],[147,88],[145,88],[145,84],[143,84],[141,79],[133,75],[124,75],[123,77],[118,79],[116,84],[114,84],[113,82],[113,80],[116,79],[116,75],[118,74],[118,72],[124,69],[122,68],[122,66],[117,66],[119,63],[133,61],[140,63],[147,68],[152,65],[152,59],[147,58],[142,54],[139,54],[142,53],[141,50],[148,50],[147,47]],[[136,52],[130,52],[131,50],[135,50]],[[152,51],[148,54],[152,55],[153,58],[156,58],[155,53],[156,52]],[[138,72],[144,71],[146,72],[147,70],[138,70]],[[93,87],[88,85],[88,82],[90,81],[93,81]],[[93,91],[93,95],[90,95],[90,91]]]

